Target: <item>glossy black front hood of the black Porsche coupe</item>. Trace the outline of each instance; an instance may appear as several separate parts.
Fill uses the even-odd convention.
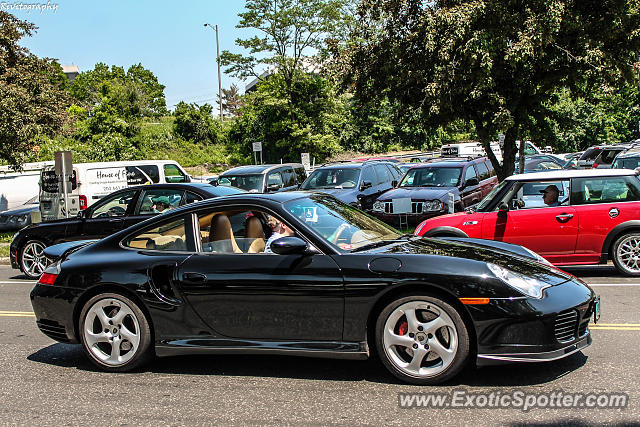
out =
[[[574,279],[555,267],[539,263],[518,251],[507,250],[504,246],[492,245],[486,241],[482,245],[472,241],[446,241],[436,238],[411,238],[397,241],[369,251],[376,254],[432,255],[460,260],[493,263],[527,277],[534,277],[551,285],[559,285]]]

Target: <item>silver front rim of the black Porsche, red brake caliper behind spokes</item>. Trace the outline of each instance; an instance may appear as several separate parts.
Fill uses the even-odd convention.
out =
[[[451,317],[438,305],[409,301],[387,318],[383,346],[388,359],[406,375],[432,377],[453,363],[458,331]]]

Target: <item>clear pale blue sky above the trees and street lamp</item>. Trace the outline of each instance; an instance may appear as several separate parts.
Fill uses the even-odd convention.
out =
[[[172,109],[179,101],[208,102],[215,108],[216,38],[204,23],[218,25],[220,52],[241,53],[235,40],[252,35],[236,28],[244,4],[244,0],[50,0],[48,4],[0,0],[0,9],[39,27],[22,42],[39,57],[77,65],[80,71],[91,70],[98,62],[125,69],[141,63],[166,86],[167,107]],[[40,11],[35,5],[48,7]],[[244,91],[249,83],[224,75],[224,68],[222,72],[223,88],[236,83]]]

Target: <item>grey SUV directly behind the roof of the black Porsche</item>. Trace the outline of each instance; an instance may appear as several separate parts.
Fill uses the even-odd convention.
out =
[[[217,185],[237,187],[251,193],[296,190],[307,177],[300,163],[239,166],[223,172]]]

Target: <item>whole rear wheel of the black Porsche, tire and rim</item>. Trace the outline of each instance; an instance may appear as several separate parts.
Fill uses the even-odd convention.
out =
[[[100,310],[104,318],[96,314]],[[128,372],[153,357],[149,321],[140,307],[124,295],[103,293],[87,301],[78,319],[78,331],[87,358],[104,371]],[[100,339],[89,343],[89,332]],[[114,357],[116,353],[122,360]]]

